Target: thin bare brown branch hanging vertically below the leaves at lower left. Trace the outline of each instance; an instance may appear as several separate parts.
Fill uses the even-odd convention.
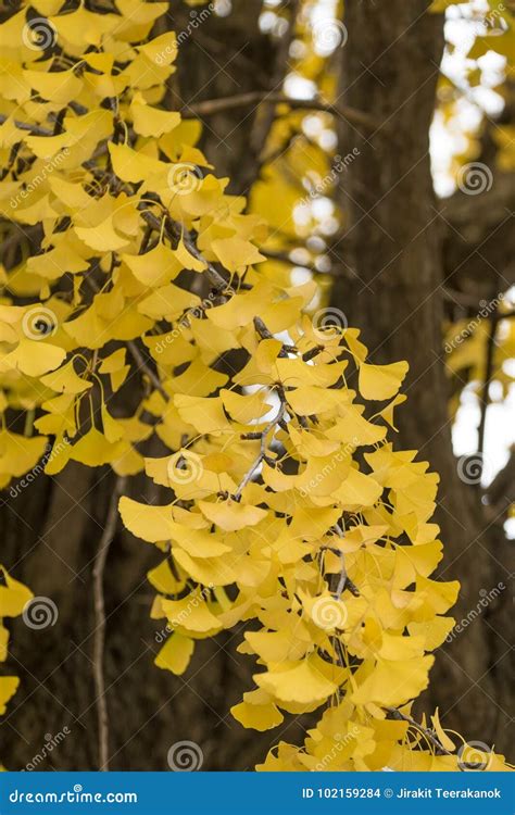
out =
[[[95,609],[93,681],[97,694],[99,769],[102,772],[109,769],[109,712],[108,700],[105,698],[104,677],[105,601],[103,593],[103,576],[109,548],[116,531],[118,500],[125,489],[126,480],[127,479],[124,476],[116,480],[92,570]]]

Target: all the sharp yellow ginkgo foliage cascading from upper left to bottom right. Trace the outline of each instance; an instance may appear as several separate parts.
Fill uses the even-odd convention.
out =
[[[438,476],[392,441],[407,364],[367,362],[357,328],[313,315],[315,281],[264,263],[266,223],[163,103],[166,10],[32,0],[0,25],[0,214],[37,239],[2,273],[1,486],[43,457],[48,475],[110,465],[166,490],[162,505],[120,501],[162,552],[158,666],[183,675],[199,641],[243,623],[255,674],[235,719],[267,730],[316,712],[304,744],[260,768],[502,769],[438,711],[411,711],[459,584],[431,578]],[[37,593],[14,574],[2,617]],[[16,685],[0,679],[2,705]]]

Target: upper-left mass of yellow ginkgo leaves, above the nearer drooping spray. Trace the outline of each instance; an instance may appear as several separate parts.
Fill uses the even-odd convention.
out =
[[[1,486],[36,464],[48,436],[47,473],[70,460],[140,471],[137,444],[154,430],[141,415],[162,410],[155,398],[131,416],[108,410],[130,378],[126,343],[145,337],[171,391],[190,383],[191,393],[210,393],[226,378],[209,367],[224,338],[202,319],[214,302],[202,277],[213,262],[233,276],[261,260],[252,240],[264,235],[255,216],[242,214],[243,199],[225,193],[227,180],[208,172],[194,147],[199,123],[158,106],[176,37],[148,37],[166,3],[120,0],[102,15],[62,7],[23,3],[0,26],[0,214],[23,231],[40,230],[37,250],[1,272],[0,410],[42,413],[37,439],[4,424]],[[36,32],[49,52],[38,49]],[[30,304],[15,305],[20,298]],[[178,341],[167,330],[160,338],[175,323]],[[172,385],[185,362],[190,367]],[[175,437],[174,416],[156,432]]]

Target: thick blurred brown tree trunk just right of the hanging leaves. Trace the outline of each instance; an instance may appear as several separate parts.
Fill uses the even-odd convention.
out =
[[[451,444],[443,284],[452,283],[454,272],[457,276],[464,259],[444,273],[448,225],[432,191],[428,135],[443,23],[427,13],[429,4],[346,2],[349,37],[340,52],[339,93],[378,125],[365,138],[340,122],[339,152],[357,147],[360,154],[339,179],[346,223],[332,247],[338,272],[332,305],[362,328],[377,362],[410,362],[409,402],[398,412],[397,444],[419,449],[440,473],[437,519],[447,553],[440,573],[462,581],[453,612],[461,619],[476,609],[481,591],[507,586],[508,573],[502,531],[485,521],[478,490],[460,480]],[[487,225],[486,233],[497,226]],[[507,745],[512,694],[507,615],[506,590],[439,654],[426,697],[427,707],[440,705],[448,726],[498,748]]]

